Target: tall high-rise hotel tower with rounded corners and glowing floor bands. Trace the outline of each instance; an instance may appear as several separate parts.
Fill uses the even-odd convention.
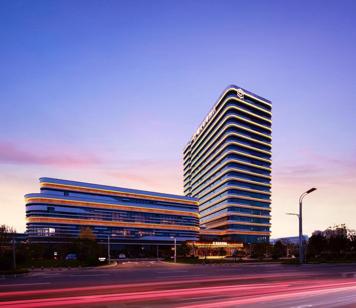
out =
[[[183,151],[184,195],[199,198],[205,239],[268,242],[271,102],[228,86]]]

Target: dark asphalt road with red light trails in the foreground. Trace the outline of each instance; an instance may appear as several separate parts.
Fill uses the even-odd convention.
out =
[[[356,263],[188,265],[132,259],[0,279],[0,307],[48,306],[351,308]]]

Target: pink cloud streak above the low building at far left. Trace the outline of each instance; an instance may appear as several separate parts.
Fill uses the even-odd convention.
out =
[[[66,148],[62,145],[51,148],[50,152],[51,154],[46,153],[46,150],[41,147],[23,150],[10,142],[2,142],[0,143],[0,164],[48,165],[72,168],[101,163],[100,159],[87,152]]]

